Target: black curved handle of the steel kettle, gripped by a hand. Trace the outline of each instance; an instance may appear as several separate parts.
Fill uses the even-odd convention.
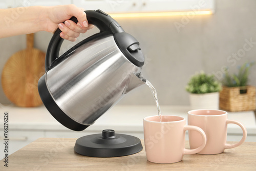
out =
[[[84,12],[87,14],[88,23],[95,25],[100,30],[100,32],[109,32],[110,34],[124,32],[122,27],[116,22],[116,20],[111,18],[108,14],[104,13],[103,11],[87,10]],[[75,23],[78,22],[76,17],[71,17],[70,20],[72,20]],[[49,42],[45,61],[46,71],[50,69],[51,63],[59,57],[59,50],[64,40],[59,36],[60,33],[61,30],[58,28],[54,32]]]

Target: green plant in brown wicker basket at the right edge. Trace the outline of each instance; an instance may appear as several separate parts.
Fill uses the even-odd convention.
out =
[[[226,70],[220,92],[220,108],[227,111],[255,110],[255,87],[248,85],[250,68],[254,62],[245,62],[237,74]]]

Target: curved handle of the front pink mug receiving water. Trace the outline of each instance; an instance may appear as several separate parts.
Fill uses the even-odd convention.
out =
[[[185,148],[183,154],[184,155],[192,155],[192,154],[196,154],[196,153],[202,151],[202,149],[205,147],[205,144],[206,144],[206,135],[205,135],[204,131],[200,127],[192,126],[192,125],[185,125],[184,131],[186,131],[186,130],[193,130],[193,131],[199,132],[203,138],[203,142],[199,147],[197,147],[195,149],[186,149]]]

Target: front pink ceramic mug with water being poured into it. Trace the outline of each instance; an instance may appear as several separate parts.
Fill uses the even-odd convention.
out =
[[[154,163],[176,163],[184,154],[200,152],[206,144],[206,136],[200,127],[185,125],[185,118],[162,115],[143,119],[146,158]],[[185,148],[185,131],[194,130],[201,135],[201,143],[195,149]]]

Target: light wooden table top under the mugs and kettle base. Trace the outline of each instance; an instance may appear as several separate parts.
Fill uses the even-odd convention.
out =
[[[244,142],[218,155],[184,155],[178,163],[156,164],[147,161],[143,140],[141,152],[112,158],[79,155],[73,149],[75,141],[39,138],[8,156],[8,167],[1,160],[0,170],[256,170],[256,142]]]

